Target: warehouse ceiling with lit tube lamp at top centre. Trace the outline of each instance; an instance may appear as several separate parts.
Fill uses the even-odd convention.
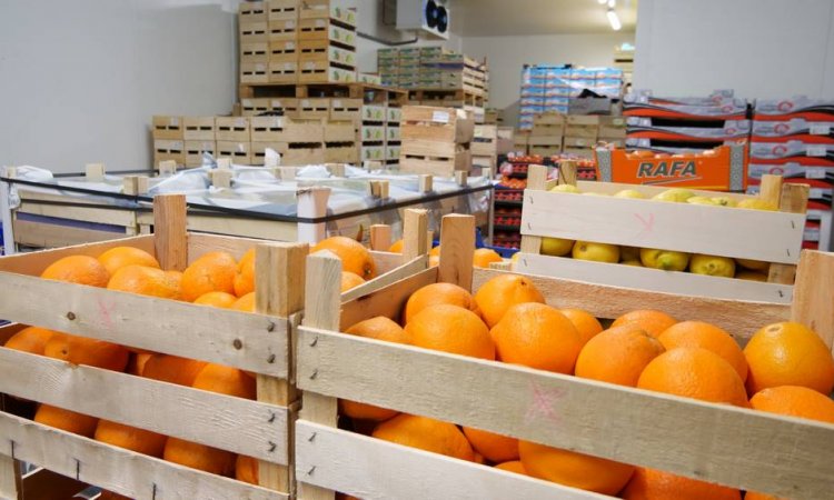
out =
[[[612,33],[597,0],[451,0],[453,30],[464,37]],[[634,31],[637,0],[617,0],[622,31]]]

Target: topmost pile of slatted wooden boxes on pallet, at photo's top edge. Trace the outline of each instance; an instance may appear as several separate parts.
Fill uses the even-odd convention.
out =
[[[240,83],[356,81],[356,11],[329,0],[241,2]]]

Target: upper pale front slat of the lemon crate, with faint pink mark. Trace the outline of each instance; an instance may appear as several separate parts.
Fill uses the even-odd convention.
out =
[[[805,216],[526,190],[522,234],[796,263]]]

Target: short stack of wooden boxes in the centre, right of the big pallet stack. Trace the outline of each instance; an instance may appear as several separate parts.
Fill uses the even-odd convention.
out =
[[[399,169],[410,173],[453,177],[471,169],[469,144],[475,131],[461,109],[406,106],[400,123]]]

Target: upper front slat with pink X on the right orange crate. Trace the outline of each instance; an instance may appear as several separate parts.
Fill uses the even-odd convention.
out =
[[[307,327],[298,384],[771,494],[823,498],[834,489],[831,424]]]

